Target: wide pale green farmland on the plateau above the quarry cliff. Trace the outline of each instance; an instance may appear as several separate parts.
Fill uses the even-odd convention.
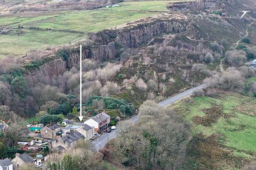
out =
[[[3,16],[0,24],[12,30],[6,35],[0,35],[0,57],[25,55],[31,49],[67,44],[85,37],[88,32],[97,32],[155,15],[159,13],[157,11],[166,11],[165,6],[169,2],[171,1],[123,2],[121,6],[97,10]],[[20,36],[17,33],[18,25],[23,26]],[[29,27],[41,30],[29,30]]]

